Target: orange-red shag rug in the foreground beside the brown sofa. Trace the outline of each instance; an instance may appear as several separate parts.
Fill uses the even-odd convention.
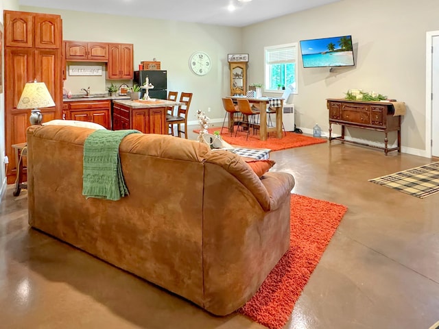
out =
[[[292,194],[289,249],[238,312],[270,329],[283,328],[346,210]]]

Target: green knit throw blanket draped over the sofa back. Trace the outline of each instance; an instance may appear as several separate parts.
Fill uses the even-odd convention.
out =
[[[96,130],[84,143],[82,195],[86,199],[119,200],[128,195],[123,180],[119,145],[128,134],[138,130]]]

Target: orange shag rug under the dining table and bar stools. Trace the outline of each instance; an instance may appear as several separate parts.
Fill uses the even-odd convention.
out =
[[[221,127],[213,127],[208,129],[210,134],[215,131],[221,131]],[[193,130],[193,132],[200,132],[200,130]],[[302,134],[296,134],[294,132],[287,132],[287,136],[282,132],[282,138],[276,138],[273,133],[267,138],[267,141],[261,141],[259,134],[252,134],[247,139],[246,132],[238,132],[235,137],[235,132],[230,137],[228,129],[224,128],[221,138],[224,139],[230,145],[239,145],[240,147],[250,147],[257,149],[271,149],[272,151],[278,151],[280,149],[292,149],[293,147],[307,146],[313,144],[327,143],[326,138],[316,138],[310,136],[303,136]]]

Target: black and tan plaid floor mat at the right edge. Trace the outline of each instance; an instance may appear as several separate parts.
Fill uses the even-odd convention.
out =
[[[369,182],[423,199],[439,192],[439,162],[374,178]]]

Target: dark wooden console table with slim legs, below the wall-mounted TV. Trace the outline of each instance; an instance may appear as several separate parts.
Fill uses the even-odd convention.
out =
[[[329,110],[329,141],[355,143],[383,149],[387,156],[390,151],[401,152],[401,115],[395,115],[394,105],[384,101],[349,101],[347,99],[327,99]],[[331,137],[331,125],[342,125],[342,136]],[[349,141],[344,138],[345,127],[357,127],[384,132],[384,147]],[[388,132],[397,132],[398,146],[388,148]]]

